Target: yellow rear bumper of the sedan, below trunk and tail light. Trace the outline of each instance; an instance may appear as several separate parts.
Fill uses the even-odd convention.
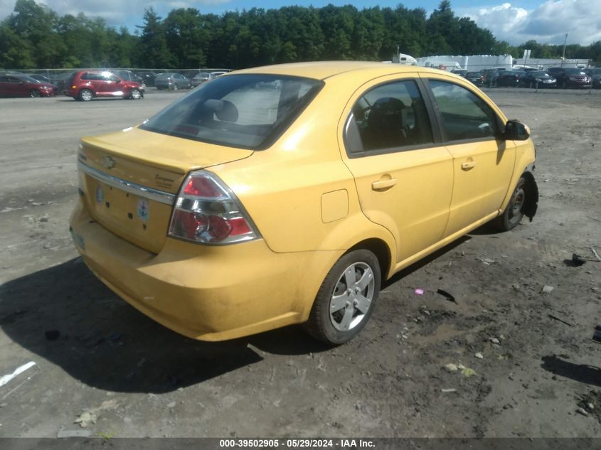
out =
[[[275,253],[264,240],[203,246],[168,238],[155,255],[92,220],[81,198],[70,228],[83,260],[112,291],[167,328],[203,341],[306,321],[342,253]]]

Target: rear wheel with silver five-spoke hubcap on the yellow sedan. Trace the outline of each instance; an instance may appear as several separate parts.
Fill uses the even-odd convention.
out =
[[[353,282],[347,282],[351,278]],[[380,285],[381,269],[376,255],[369,250],[346,253],[334,264],[321,284],[309,321],[304,324],[305,330],[330,345],[350,341],[369,320],[380,293]],[[333,309],[334,300],[341,306],[340,309]]]

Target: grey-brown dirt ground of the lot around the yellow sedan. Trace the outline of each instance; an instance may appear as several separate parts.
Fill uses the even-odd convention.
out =
[[[565,262],[601,246],[601,91],[487,92],[531,126],[538,215],[398,274],[339,348],[298,327],[192,341],[78,258],[78,138],[181,92],[0,100],[0,377],[36,363],[0,387],[0,436],[601,437],[601,262]]]

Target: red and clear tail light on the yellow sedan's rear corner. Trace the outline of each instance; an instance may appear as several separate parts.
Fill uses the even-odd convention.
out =
[[[190,173],[174,205],[169,236],[224,245],[260,237],[235,194],[214,173]]]

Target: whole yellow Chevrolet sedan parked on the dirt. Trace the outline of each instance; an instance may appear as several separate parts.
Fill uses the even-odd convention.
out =
[[[304,323],[340,344],[395,272],[532,219],[534,156],[526,125],[441,70],[239,70],[83,138],[70,229],[102,282],[185,336]]]

